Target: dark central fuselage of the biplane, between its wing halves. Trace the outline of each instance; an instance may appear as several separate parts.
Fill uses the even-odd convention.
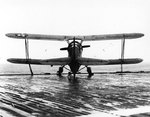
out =
[[[80,63],[78,62],[78,57],[82,56],[83,47],[80,42],[72,41],[68,45],[68,57],[71,58],[69,67],[73,74],[76,74],[80,68]]]

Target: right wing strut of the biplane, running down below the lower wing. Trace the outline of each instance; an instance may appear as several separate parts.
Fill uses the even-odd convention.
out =
[[[125,50],[125,35],[123,35],[123,39],[121,40],[121,73],[123,72],[124,50]]]

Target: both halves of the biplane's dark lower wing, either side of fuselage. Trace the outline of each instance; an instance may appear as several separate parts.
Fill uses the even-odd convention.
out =
[[[7,61],[17,64],[35,64],[35,65],[68,65],[70,63],[70,58],[54,58],[54,59],[19,59],[10,58]],[[130,59],[94,59],[94,58],[78,58],[78,62],[81,65],[117,65],[117,64],[136,64],[143,60],[140,58],[130,58]]]

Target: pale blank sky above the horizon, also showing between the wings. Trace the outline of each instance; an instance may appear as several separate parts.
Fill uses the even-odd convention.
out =
[[[150,62],[150,0],[0,0],[0,63],[7,58],[24,58],[24,40],[6,33],[50,35],[100,35],[143,33],[142,38],[127,40],[125,58]],[[31,58],[67,56],[66,42],[29,42]],[[121,41],[83,42],[91,45],[83,56],[118,59]]]

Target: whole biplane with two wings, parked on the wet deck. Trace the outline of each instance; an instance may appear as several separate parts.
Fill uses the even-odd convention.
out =
[[[92,65],[121,65],[121,71],[123,70],[123,64],[136,64],[143,60],[140,58],[124,58],[125,40],[135,39],[144,36],[142,33],[125,33],[125,34],[104,34],[104,35],[85,35],[85,36],[65,36],[65,35],[42,35],[42,34],[26,34],[26,33],[8,33],[7,37],[16,39],[25,39],[26,58],[9,58],[7,61],[17,64],[28,64],[31,75],[33,75],[31,64],[35,65],[57,65],[60,66],[57,71],[57,75],[61,76],[63,69],[66,65],[69,66],[69,75],[73,74],[73,78],[76,78],[76,74],[81,69],[86,68],[88,75],[93,76],[91,70]],[[53,58],[53,59],[31,59],[29,57],[28,40],[49,40],[49,41],[66,41],[67,47],[60,48],[60,50],[68,51],[68,57]],[[84,41],[101,41],[101,40],[121,40],[121,58],[120,59],[95,59],[82,57],[82,51],[84,48],[90,47],[90,45],[83,45]],[[81,67],[82,66],[82,67]]]

